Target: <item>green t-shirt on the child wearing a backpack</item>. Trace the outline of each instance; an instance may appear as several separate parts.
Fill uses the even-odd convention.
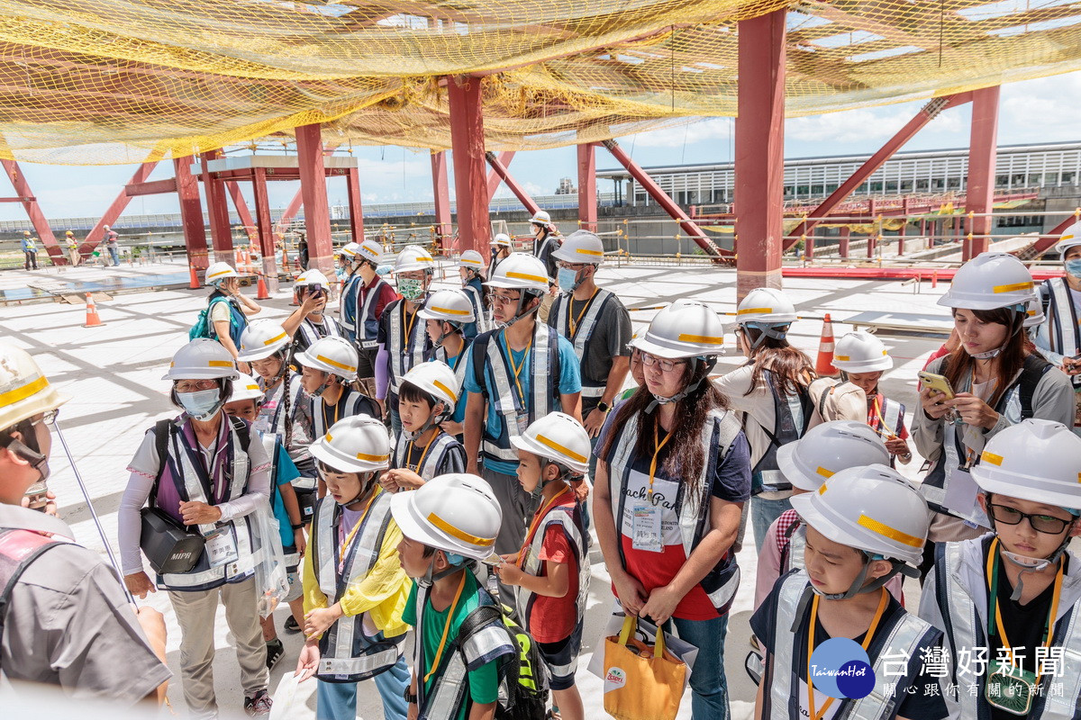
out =
[[[446,646],[451,644],[451,641],[458,636],[458,629],[462,627],[462,622],[466,616],[477,609],[480,604],[480,586],[477,584],[477,579],[473,578],[471,572],[466,571],[466,584],[462,588],[462,597],[458,599],[457,608],[454,610],[454,617],[451,619],[451,629],[446,634]],[[424,653],[422,655],[422,662],[424,665],[424,673],[421,677],[428,674],[431,669],[431,663],[436,658],[436,653],[439,651],[439,640],[443,637],[443,626],[446,623],[446,613],[450,612],[451,608],[448,606],[442,612],[436,611],[431,607],[431,598],[429,597],[424,606],[424,613],[422,616],[422,622],[424,623]],[[416,583],[409,590],[409,599],[405,600],[405,610],[402,612],[402,620],[404,620],[410,625],[415,623],[416,619]],[[440,658],[439,664],[441,666],[446,665],[446,661],[450,655],[446,649],[443,650],[443,656]],[[436,682],[436,675],[424,683],[425,694],[431,692],[431,688]],[[493,660],[484,665],[481,665],[476,670],[469,670],[468,673],[469,682],[469,697],[473,703],[483,705],[485,703],[494,703],[499,697],[499,669],[498,660]],[[462,707],[458,708],[458,720],[465,720],[466,714],[469,710],[469,703],[463,703]]]

